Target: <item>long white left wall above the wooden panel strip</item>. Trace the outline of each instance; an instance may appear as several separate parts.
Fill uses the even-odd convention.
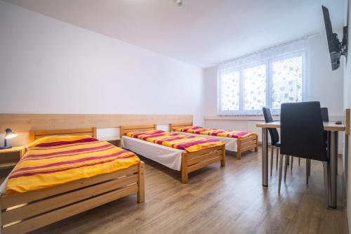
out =
[[[203,124],[200,67],[1,0],[0,32],[0,113],[192,114]]]

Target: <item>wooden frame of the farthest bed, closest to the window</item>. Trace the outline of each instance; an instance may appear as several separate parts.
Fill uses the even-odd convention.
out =
[[[169,129],[170,131],[175,131],[176,129],[179,128],[185,128],[187,126],[193,126],[192,123],[185,123],[185,124],[169,124]],[[201,135],[198,134],[199,136],[204,136],[206,135]],[[251,135],[243,139],[237,139],[237,159],[241,159],[241,153],[248,151],[248,150],[255,150],[255,152],[258,151],[258,135]]]

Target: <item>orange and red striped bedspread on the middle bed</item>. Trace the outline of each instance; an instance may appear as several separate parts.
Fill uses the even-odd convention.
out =
[[[216,139],[209,139],[199,136],[186,136],[182,134],[171,134],[170,132],[161,130],[131,131],[126,135],[143,141],[165,145],[179,150],[186,150],[187,152],[196,152],[205,148],[225,144]]]

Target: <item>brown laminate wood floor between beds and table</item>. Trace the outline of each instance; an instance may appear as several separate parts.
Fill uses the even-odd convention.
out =
[[[306,186],[305,160],[294,160],[279,195],[275,169],[270,187],[261,186],[260,151],[227,155],[226,167],[194,171],[188,184],[179,171],[142,160],[144,203],[131,195],[32,233],[347,233],[341,176],[338,209],[326,209],[321,162],[312,162]]]

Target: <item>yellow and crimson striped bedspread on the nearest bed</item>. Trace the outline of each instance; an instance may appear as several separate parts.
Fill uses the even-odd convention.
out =
[[[11,172],[6,193],[58,186],[139,164],[133,153],[91,136],[47,136],[33,141]]]

